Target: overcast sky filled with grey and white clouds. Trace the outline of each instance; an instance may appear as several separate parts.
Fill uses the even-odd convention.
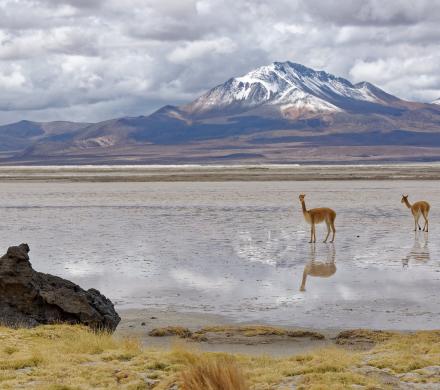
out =
[[[440,97],[440,0],[0,0],[0,123],[99,121],[290,60]]]

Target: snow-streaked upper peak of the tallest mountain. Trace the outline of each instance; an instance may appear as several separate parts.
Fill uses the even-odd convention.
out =
[[[272,105],[292,117],[292,113],[341,112],[350,101],[383,105],[393,98],[367,82],[353,85],[344,78],[300,64],[274,62],[216,86],[183,110],[203,116]]]

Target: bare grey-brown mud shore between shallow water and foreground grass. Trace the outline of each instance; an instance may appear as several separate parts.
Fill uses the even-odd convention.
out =
[[[243,354],[249,356],[271,356],[274,358],[294,356],[309,353],[327,347],[340,347],[343,345],[349,349],[365,349],[370,347],[371,341],[363,339],[362,332],[384,334],[415,334],[425,332],[402,331],[402,330],[379,330],[371,328],[305,328],[293,326],[274,326],[264,322],[237,322],[226,316],[209,313],[177,312],[173,310],[150,310],[150,309],[123,309],[118,311],[121,322],[114,335],[117,338],[135,338],[144,347],[172,350],[176,346],[196,349],[201,352],[222,352],[231,354]],[[208,337],[191,338],[179,337],[174,334],[151,336],[153,330],[165,330],[167,328],[185,329],[194,334],[207,330]],[[257,328],[263,329],[262,334],[249,335],[238,334],[237,329]],[[215,333],[210,329],[216,329]],[[298,337],[280,336],[277,331],[293,331]],[[355,332],[353,340],[346,344],[338,341],[338,335],[345,332]],[[359,335],[356,334],[359,332]],[[436,332],[426,331],[426,332]],[[319,337],[314,337],[316,334]],[[205,334],[204,334],[205,335]],[[310,337],[310,335],[312,335]]]

